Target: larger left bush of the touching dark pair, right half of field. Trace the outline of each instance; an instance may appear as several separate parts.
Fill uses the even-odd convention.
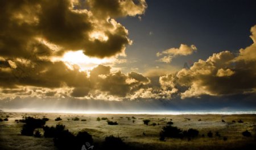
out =
[[[182,130],[173,126],[165,126],[163,130],[160,132],[161,137],[168,138],[183,138]]]

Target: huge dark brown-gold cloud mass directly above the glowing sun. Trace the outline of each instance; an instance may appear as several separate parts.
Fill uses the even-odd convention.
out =
[[[104,2],[110,5],[113,1]],[[92,2],[88,3],[92,4]],[[98,2],[95,1],[94,4],[96,3]],[[90,9],[86,6],[78,9],[79,7],[76,6],[86,4],[68,0],[1,1],[1,56],[27,57],[31,52],[41,56],[58,56],[63,55],[65,51],[80,49],[85,55],[100,58],[123,55],[126,45],[131,44],[128,31],[110,18],[143,14],[146,2],[140,1],[134,4],[133,1],[115,1],[115,3],[118,8],[90,5]],[[94,14],[94,12],[104,12],[106,7],[108,11],[115,9],[118,11],[104,13],[109,19]],[[139,8],[140,11],[131,12]],[[47,43],[58,49],[50,51],[52,47]]]

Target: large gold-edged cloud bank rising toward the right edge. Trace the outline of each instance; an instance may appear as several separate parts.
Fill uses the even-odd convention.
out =
[[[255,36],[255,27],[251,28],[252,39]],[[207,60],[195,62],[190,69],[181,69],[175,77],[170,75],[161,85],[165,89],[168,85],[174,87],[175,83],[183,99],[201,95],[255,93],[255,52],[253,43],[245,49],[240,49],[237,56],[229,51],[214,53]]]

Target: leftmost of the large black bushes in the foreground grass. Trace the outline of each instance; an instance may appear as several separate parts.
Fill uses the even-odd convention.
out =
[[[21,122],[26,123],[22,127],[21,134],[27,136],[32,136],[34,134],[35,128],[42,128],[44,124],[46,124],[46,121],[42,119],[35,119],[30,116],[22,119]]]

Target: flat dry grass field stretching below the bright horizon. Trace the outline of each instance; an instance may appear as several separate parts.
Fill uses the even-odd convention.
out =
[[[24,123],[15,122],[23,116],[34,118],[49,118],[46,126],[63,124],[72,134],[86,131],[92,135],[93,149],[104,149],[102,142],[106,136],[113,135],[121,138],[127,149],[254,149],[256,115],[135,115],[135,114],[53,114],[53,113],[1,113],[0,118],[8,118],[8,121],[0,122],[0,149],[57,149],[52,138],[35,138],[20,134]],[[57,117],[62,120],[55,121]],[[75,117],[79,120],[73,120]],[[98,121],[97,118],[101,120]],[[118,125],[108,125],[108,118]],[[82,119],[86,119],[81,121]],[[148,126],[143,123],[149,119]],[[159,140],[159,132],[167,122],[173,122],[172,126],[181,130],[193,128],[199,131],[199,135],[192,139],[166,138]],[[224,120],[224,121],[222,121]],[[232,122],[232,121],[235,122]],[[243,123],[238,123],[242,120]],[[152,126],[155,124],[155,126]],[[248,130],[251,137],[242,135]],[[43,129],[39,131],[43,135]],[[212,131],[213,138],[207,136]],[[220,136],[216,136],[216,132]],[[224,140],[224,137],[226,140]],[[113,148],[115,145],[113,145]]]

